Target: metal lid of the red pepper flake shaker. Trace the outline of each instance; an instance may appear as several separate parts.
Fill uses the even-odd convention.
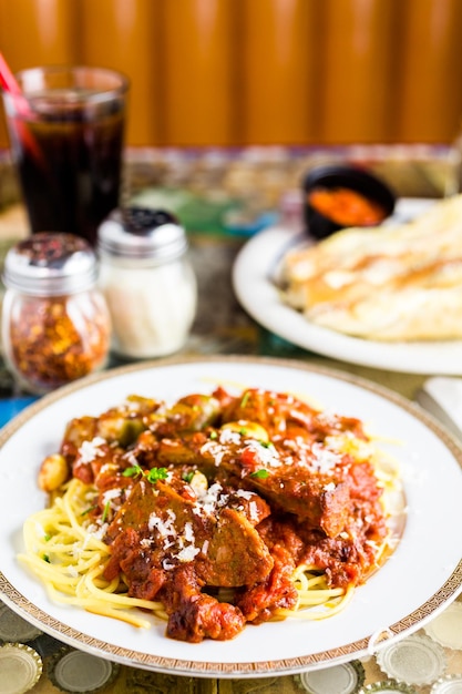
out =
[[[73,234],[41,232],[19,242],[4,258],[7,288],[34,296],[59,296],[89,289],[96,282],[97,259],[90,244]]]

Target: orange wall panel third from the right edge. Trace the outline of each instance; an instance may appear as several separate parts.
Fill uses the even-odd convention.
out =
[[[242,0],[246,143],[316,140],[319,8],[317,0]]]

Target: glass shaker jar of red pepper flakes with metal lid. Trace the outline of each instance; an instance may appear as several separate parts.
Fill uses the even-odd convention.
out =
[[[43,395],[102,368],[111,319],[97,258],[72,234],[42,232],[4,258],[2,347],[19,385]]]

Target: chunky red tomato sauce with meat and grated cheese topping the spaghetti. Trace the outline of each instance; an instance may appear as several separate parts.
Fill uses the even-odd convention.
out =
[[[377,567],[382,488],[355,441],[368,443],[359,419],[287,394],[217,388],[171,407],[132,397],[75,419],[61,453],[95,488],[91,520],[111,548],[105,578],[160,600],[168,636],[199,642],[295,609],[300,564],[333,588]],[[233,598],[218,600],[222,590]]]

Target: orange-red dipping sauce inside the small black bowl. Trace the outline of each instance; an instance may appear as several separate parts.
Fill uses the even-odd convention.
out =
[[[314,188],[308,193],[308,203],[341,226],[373,226],[387,216],[379,203],[346,187]]]

